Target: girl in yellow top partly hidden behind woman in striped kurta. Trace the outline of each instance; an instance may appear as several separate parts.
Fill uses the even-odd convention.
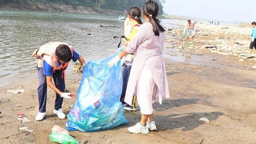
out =
[[[123,40],[124,46],[126,46],[127,43],[130,40],[132,40],[134,38],[134,36],[137,34],[137,32],[140,28],[140,25],[142,24],[142,21],[140,20],[140,16],[141,16],[141,12],[140,12],[139,7],[133,6],[129,9],[129,12],[128,12],[129,20],[127,20],[125,22],[125,38],[126,38],[126,40],[125,39]],[[120,97],[120,101],[122,102],[122,104],[124,106],[123,109],[126,111],[136,111],[136,108],[135,108],[136,96],[135,95],[134,95],[134,102],[133,102],[132,106],[126,104],[124,101],[126,87],[127,87],[128,79],[129,79],[130,72],[131,72],[132,59],[133,59],[133,55],[130,55],[130,54],[125,57],[125,63],[124,63],[123,70],[122,70],[123,85],[122,85],[122,95]]]

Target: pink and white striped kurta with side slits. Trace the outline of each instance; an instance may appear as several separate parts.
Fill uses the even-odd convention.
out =
[[[163,43],[164,32],[161,32],[160,36],[155,36],[151,23],[144,23],[140,26],[134,39],[126,46],[126,52],[129,54],[134,53],[125,94],[125,102],[127,104],[132,104],[133,95],[137,93],[138,76],[145,65],[151,70],[154,81],[157,84],[155,99],[159,98],[159,103],[162,104],[163,98],[170,98],[163,59]]]

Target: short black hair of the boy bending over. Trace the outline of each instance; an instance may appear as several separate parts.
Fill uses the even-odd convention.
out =
[[[66,63],[72,59],[72,52],[70,50],[70,47],[65,44],[60,44],[57,47],[55,54],[59,60],[63,60]]]

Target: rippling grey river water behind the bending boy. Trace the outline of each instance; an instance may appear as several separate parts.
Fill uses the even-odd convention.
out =
[[[166,27],[180,22],[161,21]],[[69,43],[86,61],[106,58],[116,51],[119,39],[113,37],[122,35],[123,23],[117,16],[101,14],[0,10],[0,84],[35,75],[32,52],[50,41]]]

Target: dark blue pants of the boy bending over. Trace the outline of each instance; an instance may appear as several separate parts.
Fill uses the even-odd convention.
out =
[[[46,100],[47,100],[47,83],[46,75],[44,75],[44,68],[38,67],[38,101],[39,101],[39,112],[46,112]],[[55,86],[61,91],[65,91],[65,80],[62,79],[62,70],[57,70],[53,73],[53,81]],[[55,99],[55,110],[61,108],[63,98],[56,93]]]

